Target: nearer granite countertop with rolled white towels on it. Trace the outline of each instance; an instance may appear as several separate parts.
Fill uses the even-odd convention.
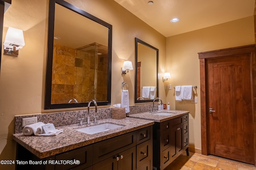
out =
[[[45,158],[153,125],[154,121],[126,117],[125,119],[98,120],[95,125],[102,123],[115,123],[124,125],[124,127],[88,135],[75,129],[88,127],[89,125],[78,126],[78,124],[74,124],[56,127],[56,129],[63,129],[63,133],[57,136],[24,136],[23,133],[15,133],[12,135],[12,139],[38,156],[38,158]]]

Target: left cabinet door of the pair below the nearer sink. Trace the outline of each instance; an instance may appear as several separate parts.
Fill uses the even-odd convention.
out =
[[[115,156],[102,160],[94,165],[92,165],[92,170],[117,170],[118,160]]]

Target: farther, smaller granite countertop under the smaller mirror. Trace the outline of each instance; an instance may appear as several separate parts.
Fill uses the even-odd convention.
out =
[[[155,114],[155,113],[160,113],[160,112],[173,113],[173,114],[171,114],[171,115],[156,115]],[[152,120],[155,122],[162,122],[162,121],[170,120],[175,117],[179,117],[181,115],[185,115],[188,113],[189,113],[189,111],[182,111],[182,110],[161,110],[161,111],[157,111],[154,113],[144,112],[144,113],[132,114],[132,115],[129,115],[129,117],[133,117],[133,118],[137,118],[137,119]]]

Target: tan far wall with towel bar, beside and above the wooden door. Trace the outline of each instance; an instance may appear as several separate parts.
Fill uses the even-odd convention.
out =
[[[166,92],[166,101],[170,101],[172,109],[190,111],[190,147],[201,149],[200,67],[197,53],[250,44],[254,44],[253,16],[167,37],[166,70],[172,76],[168,84],[172,84],[172,87],[198,86],[194,90],[198,98],[196,104],[191,101],[176,102],[173,88]]]

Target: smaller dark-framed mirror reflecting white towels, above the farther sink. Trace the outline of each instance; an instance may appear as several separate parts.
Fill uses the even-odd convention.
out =
[[[159,50],[135,38],[135,97],[134,103],[153,102],[159,95]]]

